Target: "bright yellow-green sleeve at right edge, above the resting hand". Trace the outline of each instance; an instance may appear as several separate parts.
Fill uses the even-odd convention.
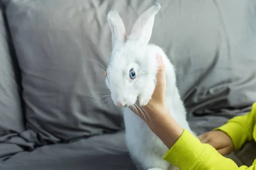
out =
[[[244,116],[236,116],[230,119],[227,124],[215,129],[221,130],[230,136],[236,150],[253,140],[253,129],[256,125],[256,102],[252,110]]]

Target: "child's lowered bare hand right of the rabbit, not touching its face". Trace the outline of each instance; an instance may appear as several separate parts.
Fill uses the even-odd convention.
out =
[[[220,130],[210,131],[198,136],[198,139],[202,143],[207,143],[212,145],[221,155],[228,155],[229,153],[235,151],[235,146],[231,138]]]

